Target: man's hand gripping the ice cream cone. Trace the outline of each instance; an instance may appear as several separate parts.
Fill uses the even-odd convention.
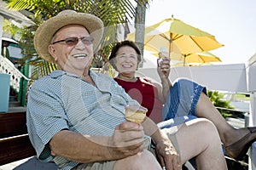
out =
[[[114,159],[133,156],[143,151],[143,127],[136,122],[123,122],[115,127],[109,139],[109,152]]]

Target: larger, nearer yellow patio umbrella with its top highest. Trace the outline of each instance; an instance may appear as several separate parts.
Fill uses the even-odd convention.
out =
[[[128,34],[127,39],[134,41],[135,33]],[[222,46],[206,31],[174,18],[162,20],[145,28],[144,48],[159,52],[160,48],[165,47],[169,50],[171,59],[177,58],[174,54],[189,55]]]

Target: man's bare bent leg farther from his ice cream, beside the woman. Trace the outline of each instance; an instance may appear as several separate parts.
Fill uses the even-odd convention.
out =
[[[218,131],[212,122],[204,118],[186,122],[175,136],[182,163],[195,156],[199,170],[227,169]]]

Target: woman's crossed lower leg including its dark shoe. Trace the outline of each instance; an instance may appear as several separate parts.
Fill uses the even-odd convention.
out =
[[[212,105],[206,94],[200,96],[196,106],[196,115],[205,117],[215,124],[224,144],[225,154],[236,160],[242,160],[251,144],[256,141],[256,127],[236,129],[230,126]]]

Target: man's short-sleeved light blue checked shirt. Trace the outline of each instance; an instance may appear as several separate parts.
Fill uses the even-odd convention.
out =
[[[50,155],[49,140],[62,129],[89,135],[110,136],[125,122],[125,105],[137,104],[113,78],[90,71],[96,86],[65,71],[53,71],[32,84],[26,122],[38,158],[55,161],[61,169],[79,162]]]

